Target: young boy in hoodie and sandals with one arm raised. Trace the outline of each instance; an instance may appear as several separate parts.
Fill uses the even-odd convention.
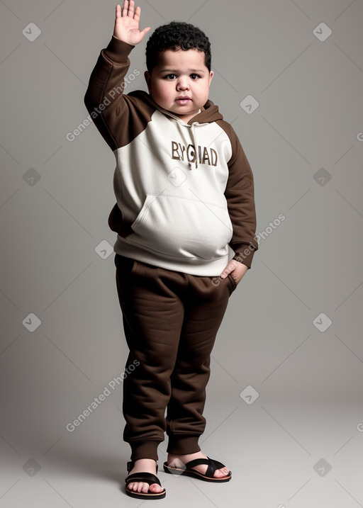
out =
[[[128,55],[150,30],[140,31],[139,21],[133,0],[116,6],[113,36],[84,103],[116,157],[117,203],[108,224],[118,233],[116,285],[130,349],[123,382],[123,439],[132,451],[126,493],[160,499],[157,447],[165,431],[166,473],[231,478],[198,440],[216,333],[258,244],[250,164],[208,100],[208,38],[187,23],[157,28],[146,49],[149,94],[126,95]]]

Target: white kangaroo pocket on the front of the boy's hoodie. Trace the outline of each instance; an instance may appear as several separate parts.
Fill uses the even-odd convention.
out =
[[[128,242],[175,258],[218,259],[228,253],[233,228],[227,205],[147,194]]]

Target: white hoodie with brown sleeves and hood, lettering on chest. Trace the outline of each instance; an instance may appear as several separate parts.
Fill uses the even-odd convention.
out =
[[[123,94],[133,45],[112,36],[84,104],[113,150],[114,251],[164,269],[219,276],[258,248],[254,182],[232,126],[208,100],[188,123],[145,91]]]

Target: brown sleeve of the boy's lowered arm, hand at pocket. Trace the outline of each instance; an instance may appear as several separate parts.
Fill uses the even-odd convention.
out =
[[[228,213],[233,225],[230,248],[233,259],[251,268],[252,258],[258,249],[256,239],[255,187],[253,174],[246,154],[235,131],[227,122],[221,121],[232,145],[232,157],[228,162],[229,176],[225,188]]]

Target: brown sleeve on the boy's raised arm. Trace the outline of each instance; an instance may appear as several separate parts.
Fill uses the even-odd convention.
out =
[[[112,35],[108,46],[101,50],[84,96],[87,111],[112,150],[135,139],[154,111],[140,98],[123,94],[130,67],[128,55],[133,47]]]

